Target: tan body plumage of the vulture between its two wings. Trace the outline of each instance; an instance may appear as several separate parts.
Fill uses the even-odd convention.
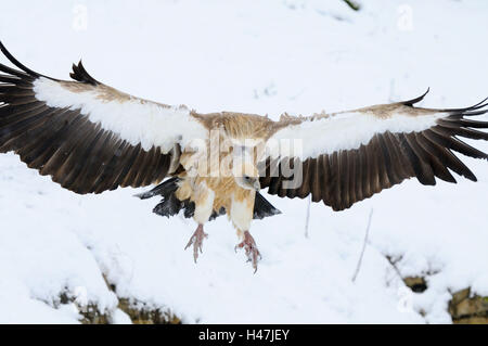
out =
[[[257,115],[239,113],[193,114],[193,116],[215,133],[214,137],[209,136],[210,138],[218,137],[218,140],[210,140],[206,144],[208,152],[219,153],[219,159],[218,162],[207,161],[208,170],[213,172],[213,176],[208,177],[201,172],[196,177],[189,177],[189,171],[198,169],[200,153],[183,152],[180,163],[184,171],[179,175],[181,182],[176,195],[181,201],[190,198],[195,203],[194,219],[197,223],[206,222],[213,212],[218,213],[224,209],[237,235],[243,238],[244,232],[249,230],[253,219],[256,191],[248,187],[243,188],[235,180],[235,171],[232,172],[232,169],[236,168],[232,165],[234,145],[236,141],[242,141],[241,144],[244,145],[251,138],[262,143],[271,133],[269,129],[273,128],[275,123]],[[224,162],[229,162],[229,166],[221,165]],[[256,169],[257,156],[249,156],[242,164],[245,167],[242,167],[243,171],[239,174],[244,175],[244,170],[248,170],[253,182],[257,182],[259,180]]]

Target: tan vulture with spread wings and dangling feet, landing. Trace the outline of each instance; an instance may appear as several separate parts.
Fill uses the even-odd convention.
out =
[[[280,212],[260,193],[311,197],[344,210],[383,189],[416,178],[476,181],[454,153],[488,159],[461,138],[488,140],[487,99],[464,108],[408,101],[310,116],[202,114],[118,91],[91,77],[81,62],[73,80],[38,74],[0,43],[16,68],[0,64],[0,153],[75,193],[146,187],[160,196],[154,213],[179,213],[197,225],[188,242],[196,261],[204,223],[227,215],[254,270],[260,253],[253,219]],[[185,247],[185,248],[187,248]]]

